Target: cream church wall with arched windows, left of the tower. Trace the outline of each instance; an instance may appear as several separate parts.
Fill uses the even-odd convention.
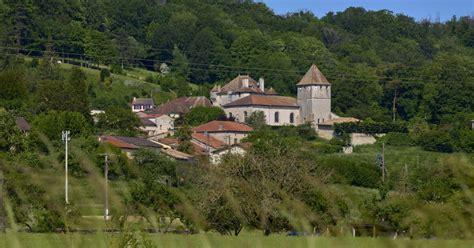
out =
[[[283,126],[283,125],[298,125],[299,124],[299,108],[290,108],[290,107],[268,107],[268,106],[243,106],[243,107],[227,107],[224,108],[224,111],[227,116],[232,116],[236,118],[236,121],[244,122],[245,121],[245,112],[247,116],[254,111],[262,111],[265,114],[265,121],[267,125],[270,126]],[[275,113],[279,113],[279,121],[275,122]],[[294,119],[293,123],[290,122],[290,114],[293,113]]]

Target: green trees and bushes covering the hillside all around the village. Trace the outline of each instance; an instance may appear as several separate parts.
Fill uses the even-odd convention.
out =
[[[166,220],[179,218],[192,232],[235,235],[342,235],[350,224],[371,223],[407,237],[473,237],[472,17],[439,23],[357,7],[321,18],[281,16],[254,1],[0,0],[0,20],[0,170],[8,199],[0,217],[7,212],[20,229],[73,230],[85,226],[81,216],[100,215],[91,206],[103,202],[97,192],[107,152],[112,215],[144,216],[155,231],[175,228]],[[336,126],[337,139],[322,140],[309,125],[269,128],[253,116],[251,149],[219,167],[146,150],[130,160],[97,141],[141,135],[128,105],[134,96],[159,103],[207,95],[238,74],[294,96],[312,63],[332,83],[333,112],[363,120]],[[94,122],[91,109],[105,113]],[[18,116],[31,123],[29,135],[15,127]],[[187,114],[176,136],[185,141],[204,117]],[[68,205],[66,129],[71,187],[82,197]],[[345,134],[355,130],[387,135],[341,154]],[[374,165],[382,143],[384,179]],[[113,219],[115,227],[121,221]]]

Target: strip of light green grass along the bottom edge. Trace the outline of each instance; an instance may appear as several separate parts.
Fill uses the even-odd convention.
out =
[[[242,234],[147,235],[158,247],[474,247],[472,240],[409,240],[365,237],[287,237]],[[110,247],[117,234],[0,234],[1,247]],[[5,242],[5,243],[3,243]],[[3,244],[2,244],[3,243]]]

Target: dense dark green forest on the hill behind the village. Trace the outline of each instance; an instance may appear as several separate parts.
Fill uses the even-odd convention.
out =
[[[0,2],[2,54],[91,63],[171,66],[196,84],[264,77],[281,94],[316,63],[334,85],[338,114],[449,123],[473,111],[474,20],[415,21],[349,8],[322,18],[275,15],[252,1]]]

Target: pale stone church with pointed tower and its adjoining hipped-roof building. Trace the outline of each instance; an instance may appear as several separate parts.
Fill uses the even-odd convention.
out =
[[[262,111],[271,126],[311,123],[316,130],[356,120],[340,118],[331,112],[331,84],[316,65],[309,68],[296,86],[296,99],[279,96],[272,88],[265,88],[262,78],[257,82],[248,75],[239,75],[222,87],[215,86],[211,101],[239,122],[244,122],[254,111]]]

